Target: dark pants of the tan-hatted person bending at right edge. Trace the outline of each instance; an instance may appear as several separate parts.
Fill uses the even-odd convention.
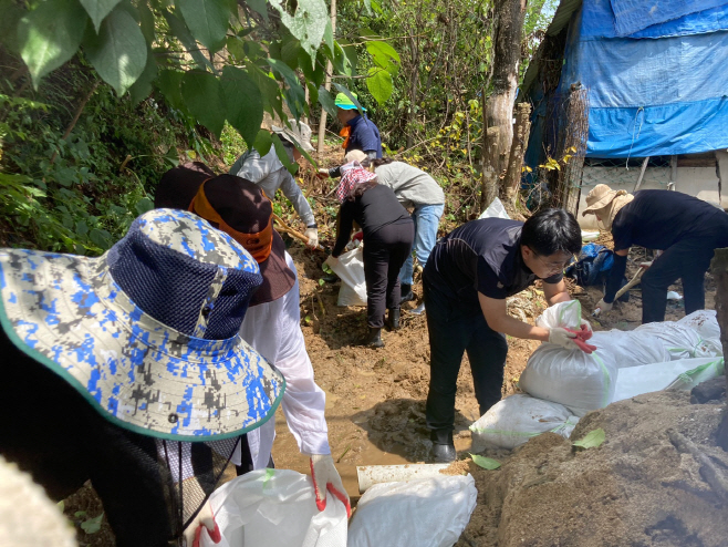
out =
[[[685,313],[705,308],[705,272],[714,250],[728,247],[728,233],[719,230],[700,238],[677,241],[668,247],[642,276],[642,322],[665,320],[667,289],[683,280]]]

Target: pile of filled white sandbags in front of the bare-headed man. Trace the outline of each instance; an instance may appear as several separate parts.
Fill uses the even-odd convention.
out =
[[[535,323],[579,329],[580,319],[581,305],[571,300],[547,309]],[[474,448],[513,448],[545,432],[569,437],[591,410],[651,391],[691,389],[725,371],[711,310],[633,331],[595,332],[589,343],[596,347],[591,354],[541,344],[519,380],[527,394],[503,399],[470,426]]]

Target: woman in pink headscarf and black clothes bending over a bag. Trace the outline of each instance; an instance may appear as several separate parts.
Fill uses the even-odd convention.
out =
[[[354,220],[364,231],[364,278],[366,280],[366,345],[382,348],[385,306],[389,310],[388,324],[399,327],[399,269],[407,259],[414,226],[407,210],[399,204],[392,188],[379,185],[376,175],[358,162],[342,166],[336,188],[341,202],[341,223],[334,260],[342,254],[352,233]]]

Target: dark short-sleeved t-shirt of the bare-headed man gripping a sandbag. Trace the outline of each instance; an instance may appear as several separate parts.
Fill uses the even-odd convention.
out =
[[[441,238],[427,260],[428,283],[471,306],[478,292],[503,300],[538,277],[523,264],[523,223],[502,218],[471,220]],[[558,283],[563,275],[544,279]]]

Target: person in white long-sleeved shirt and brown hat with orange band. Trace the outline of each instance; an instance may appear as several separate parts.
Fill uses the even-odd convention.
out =
[[[198,185],[191,204],[176,188]],[[325,393],[316,385],[313,367],[301,331],[300,290],[292,258],[272,227],[272,205],[260,187],[232,175],[209,176],[209,171],[185,166],[167,172],[155,194],[155,204],[174,200],[178,208],[208,220],[239,241],[259,262],[263,283],[253,295],[240,336],[283,374],[285,392],[281,406],[299,450],[311,460],[316,506],[326,506],[326,492],[339,498],[351,514],[349,496],[334,466],[324,417]],[[225,290],[225,288],[223,288]],[[271,463],[275,437],[274,420],[248,433],[231,462],[238,474]],[[211,516],[209,516],[211,518]],[[204,518],[200,519],[204,522]],[[208,526],[212,528],[214,526]]]

